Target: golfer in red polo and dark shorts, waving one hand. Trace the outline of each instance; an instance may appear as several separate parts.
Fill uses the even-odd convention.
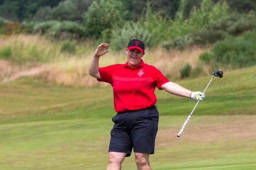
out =
[[[114,107],[117,112],[112,118],[107,169],[121,169],[125,157],[133,148],[137,169],[151,169],[149,155],[154,154],[159,114],[155,88],[170,94],[203,100],[202,92],[192,92],[170,82],[152,65],[144,63],[145,46],[141,40],[132,39],[126,48],[127,62],[99,68],[100,56],[109,52],[107,43],[100,44],[92,57],[89,74],[111,84]],[[197,96],[197,97],[196,97]]]

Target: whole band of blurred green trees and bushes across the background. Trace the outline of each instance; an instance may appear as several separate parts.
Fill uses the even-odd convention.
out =
[[[118,51],[132,38],[163,50],[211,47],[201,62],[240,68],[256,64],[255,11],[254,0],[0,0],[0,35],[60,40],[61,52],[74,55],[79,43]],[[0,58],[12,58],[13,48],[0,47]],[[41,61],[36,46],[28,49]],[[180,73],[193,75],[189,65]]]

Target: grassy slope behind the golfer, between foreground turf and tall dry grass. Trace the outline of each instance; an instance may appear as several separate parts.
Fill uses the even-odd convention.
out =
[[[214,78],[196,115],[255,114],[256,67],[224,73]],[[211,76],[178,82],[203,91]],[[95,80],[97,81],[97,80]],[[0,123],[111,117],[114,113],[111,87],[74,88],[55,86],[38,79],[19,79],[0,84]],[[187,115],[195,102],[156,90],[161,115]]]

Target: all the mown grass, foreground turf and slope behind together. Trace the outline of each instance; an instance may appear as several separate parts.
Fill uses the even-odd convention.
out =
[[[214,78],[195,101],[156,90],[153,169],[256,169],[256,67]],[[211,76],[178,82],[203,91]],[[97,81],[97,80],[95,80]],[[111,87],[63,87],[23,78],[0,84],[0,169],[106,169],[115,115]],[[134,154],[123,169],[136,169]]]

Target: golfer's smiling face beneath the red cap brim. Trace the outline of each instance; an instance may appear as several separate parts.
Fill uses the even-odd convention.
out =
[[[130,67],[135,67],[140,64],[141,58],[145,53],[141,52],[139,49],[126,49],[127,62]]]

